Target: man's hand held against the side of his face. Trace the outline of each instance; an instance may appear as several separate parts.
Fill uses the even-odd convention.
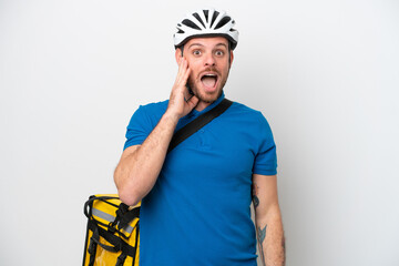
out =
[[[188,62],[185,58],[181,58],[178,62],[178,71],[175,83],[172,88],[167,111],[178,119],[188,114],[197,104],[198,99],[188,93],[186,83],[190,76]]]

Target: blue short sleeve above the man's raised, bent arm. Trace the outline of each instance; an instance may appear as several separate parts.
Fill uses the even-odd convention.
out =
[[[152,131],[151,121],[144,106],[140,106],[132,115],[126,130],[126,142],[123,150],[133,145],[141,145]]]

